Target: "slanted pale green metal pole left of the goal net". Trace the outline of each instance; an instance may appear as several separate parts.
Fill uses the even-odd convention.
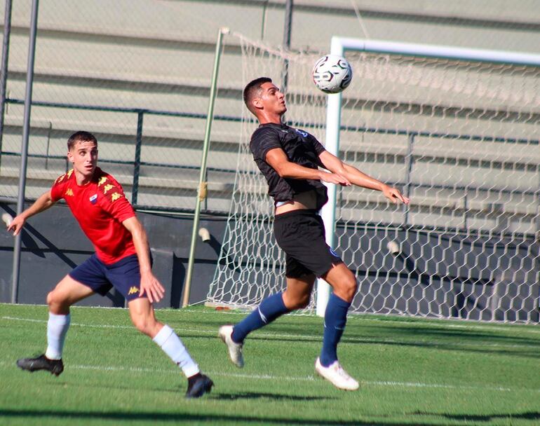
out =
[[[191,233],[191,246],[189,247],[189,260],[187,263],[186,284],[184,286],[184,298],[182,298],[182,308],[189,304],[189,291],[191,289],[191,277],[193,276],[193,266],[195,263],[195,248],[197,245],[198,220],[201,215],[201,202],[205,200],[208,182],[206,181],[206,159],[210,148],[210,130],[214,119],[215,92],[217,86],[217,74],[220,69],[220,57],[222,50],[223,34],[229,33],[228,28],[220,28],[217,32],[217,43],[215,45],[214,71],[212,73],[212,83],[210,84],[210,101],[208,103],[208,115],[206,116],[206,130],[203,143],[203,158],[201,159],[201,173],[198,178],[197,200],[195,214],[193,218],[193,232]]]

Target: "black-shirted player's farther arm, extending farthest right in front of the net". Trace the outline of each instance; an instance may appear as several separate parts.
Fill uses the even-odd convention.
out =
[[[360,172],[356,167],[344,163],[328,151],[321,153],[319,159],[330,172],[343,176],[345,179],[349,180],[351,184],[381,191],[386,198],[391,200],[391,202],[403,202],[409,204],[409,198],[403,196],[397,188],[386,185],[382,181]]]

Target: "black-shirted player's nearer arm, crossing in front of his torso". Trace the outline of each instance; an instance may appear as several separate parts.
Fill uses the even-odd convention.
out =
[[[351,182],[342,175],[311,169],[291,163],[281,148],[274,148],[266,153],[266,163],[276,170],[280,177],[288,179],[318,179],[330,184],[349,186]]]

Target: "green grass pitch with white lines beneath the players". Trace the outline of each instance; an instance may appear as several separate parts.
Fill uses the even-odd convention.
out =
[[[215,382],[186,380],[123,309],[73,308],[55,377],[15,366],[46,346],[46,306],[0,305],[0,425],[539,425],[540,329],[355,316],[339,356],[358,392],[314,375],[322,320],[286,316],[245,343],[236,369],[217,338],[245,314],[159,310]]]

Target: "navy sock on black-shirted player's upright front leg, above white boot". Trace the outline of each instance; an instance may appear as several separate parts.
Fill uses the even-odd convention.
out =
[[[347,322],[347,310],[351,303],[344,301],[335,294],[330,294],[325,311],[325,334],[323,350],[320,351],[320,364],[328,367],[337,361],[337,343],[342,338]]]

